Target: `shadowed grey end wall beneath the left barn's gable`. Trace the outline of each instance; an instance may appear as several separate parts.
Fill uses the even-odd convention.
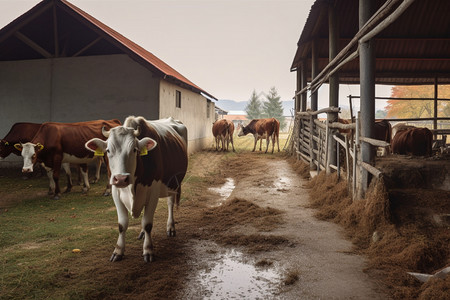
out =
[[[127,55],[0,62],[0,137],[16,122],[157,119],[159,83]]]

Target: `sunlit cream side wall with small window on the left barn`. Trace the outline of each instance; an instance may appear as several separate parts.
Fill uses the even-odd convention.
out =
[[[176,91],[181,92],[181,108],[176,107]],[[214,123],[214,103],[200,94],[180,88],[161,80],[160,83],[160,118],[173,117],[183,122],[188,128],[188,151],[195,151],[212,145],[212,124]],[[209,110],[209,117],[207,110]]]

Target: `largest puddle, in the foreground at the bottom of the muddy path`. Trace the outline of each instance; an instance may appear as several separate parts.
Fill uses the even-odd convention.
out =
[[[243,254],[226,252],[212,268],[201,271],[203,299],[266,299],[274,295],[281,277],[274,270],[243,262]]]

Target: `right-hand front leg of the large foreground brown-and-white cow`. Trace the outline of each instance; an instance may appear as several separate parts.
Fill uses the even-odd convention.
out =
[[[142,217],[142,228],[144,229],[144,245],[142,247],[145,262],[154,261],[153,256],[153,242],[152,242],[152,228],[153,228],[153,216],[155,215],[156,205],[158,204],[160,194],[159,185],[152,185],[150,189],[150,195],[148,197],[147,205],[144,208],[144,215]]]

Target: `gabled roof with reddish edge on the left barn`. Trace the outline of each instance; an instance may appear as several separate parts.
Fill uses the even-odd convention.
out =
[[[123,53],[156,76],[217,100],[164,61],[67,0],[43,0],[0,30],[0,61]]]

